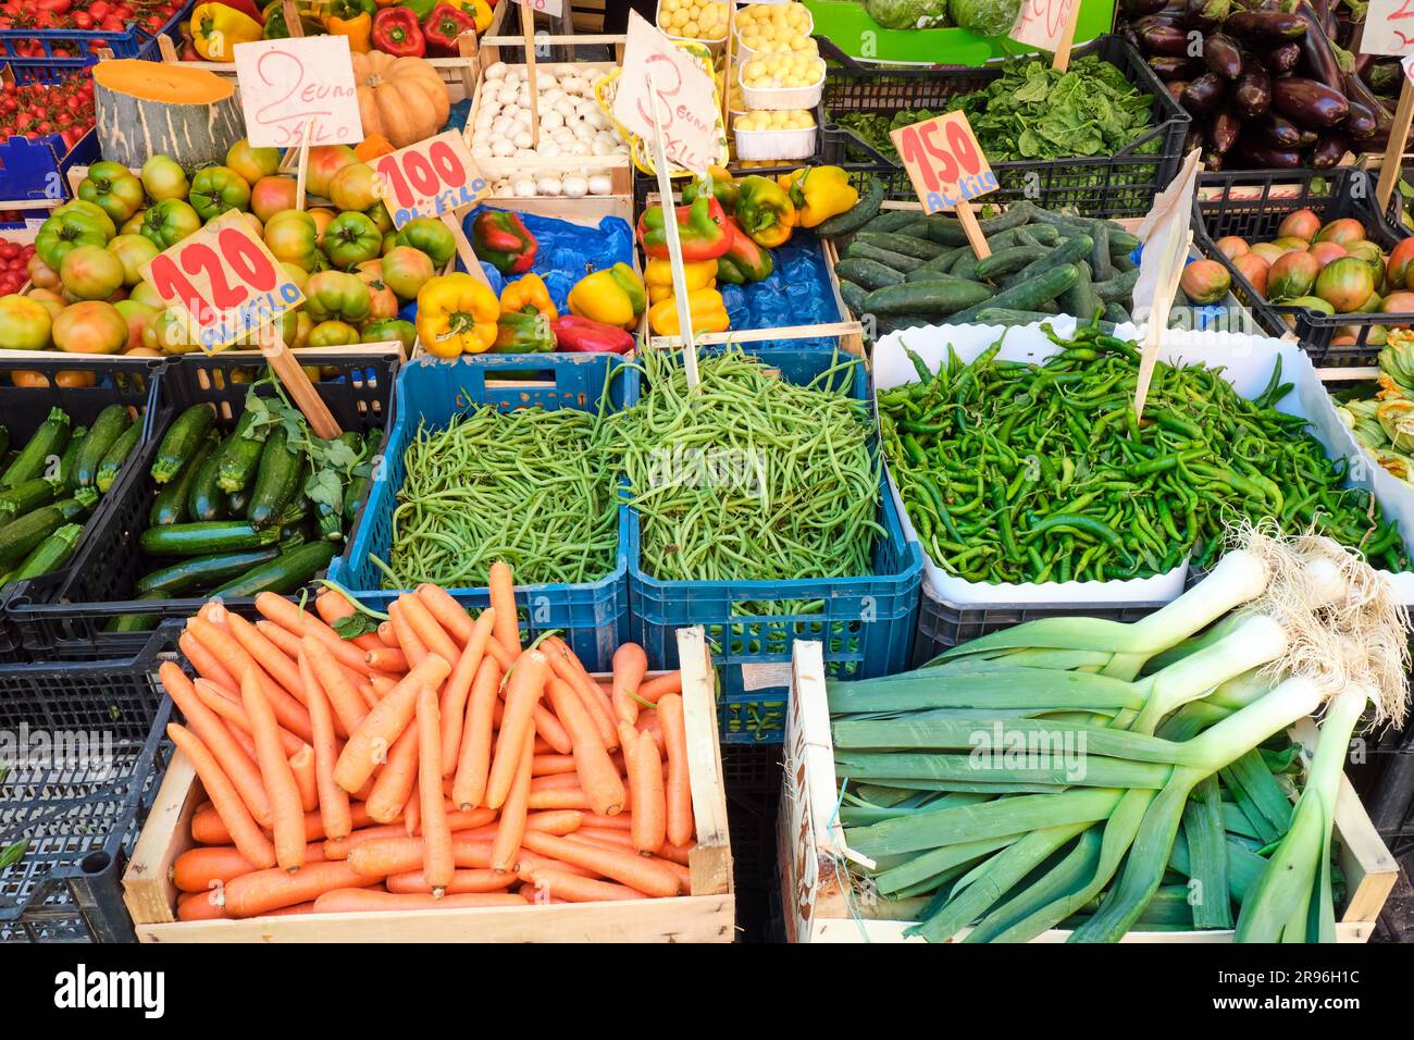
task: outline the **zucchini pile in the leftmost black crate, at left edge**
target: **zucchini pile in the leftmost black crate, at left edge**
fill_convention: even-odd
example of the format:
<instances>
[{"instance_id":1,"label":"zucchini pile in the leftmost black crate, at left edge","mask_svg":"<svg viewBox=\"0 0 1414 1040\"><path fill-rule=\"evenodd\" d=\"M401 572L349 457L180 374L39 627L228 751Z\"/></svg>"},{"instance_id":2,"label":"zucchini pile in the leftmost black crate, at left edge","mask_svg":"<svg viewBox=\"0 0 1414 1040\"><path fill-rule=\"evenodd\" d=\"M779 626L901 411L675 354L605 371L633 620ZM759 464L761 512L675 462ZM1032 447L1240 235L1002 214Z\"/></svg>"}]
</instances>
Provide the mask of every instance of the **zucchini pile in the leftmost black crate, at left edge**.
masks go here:
<instances>
[{"instance_id":1,"label":"zucchini pile in the leftmost black crate, at left edge","mask_svg":"<svg viewBox=\"0 0 1414 1040\"><path fill-rule=\"evenodd\" d=\"M74 559L83 524L141 434L124 405L109 405L92 426L74 426L64 409L51 409L18 450L10 450L10 430L0 426L0 586Z\"/></svg>"}]
</instances>

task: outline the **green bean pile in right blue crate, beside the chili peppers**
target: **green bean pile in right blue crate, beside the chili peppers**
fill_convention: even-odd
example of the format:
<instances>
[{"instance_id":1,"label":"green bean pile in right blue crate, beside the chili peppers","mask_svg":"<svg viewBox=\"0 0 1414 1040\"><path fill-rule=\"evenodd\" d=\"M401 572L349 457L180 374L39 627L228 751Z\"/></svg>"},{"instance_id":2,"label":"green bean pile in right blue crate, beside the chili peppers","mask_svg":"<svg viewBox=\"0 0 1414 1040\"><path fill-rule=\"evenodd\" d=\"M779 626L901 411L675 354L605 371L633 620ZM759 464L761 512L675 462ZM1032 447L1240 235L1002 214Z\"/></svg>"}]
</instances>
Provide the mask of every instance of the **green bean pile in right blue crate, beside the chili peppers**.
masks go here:
<instances>
[{"instance_id":1,"label":"green bean pile in right blue crate, beside the chili peppers","mask_svg":"<svg viewBox=\"0 0 1414 1040\"><path fill-rule=\"evenodd\" d=\"M649 352L649 383L608 416L639 511L643 570L660 580L790 580L872 572L880 461L853 359L807 386L738 348L680 361Z\"/></svg>"}]
</instances>

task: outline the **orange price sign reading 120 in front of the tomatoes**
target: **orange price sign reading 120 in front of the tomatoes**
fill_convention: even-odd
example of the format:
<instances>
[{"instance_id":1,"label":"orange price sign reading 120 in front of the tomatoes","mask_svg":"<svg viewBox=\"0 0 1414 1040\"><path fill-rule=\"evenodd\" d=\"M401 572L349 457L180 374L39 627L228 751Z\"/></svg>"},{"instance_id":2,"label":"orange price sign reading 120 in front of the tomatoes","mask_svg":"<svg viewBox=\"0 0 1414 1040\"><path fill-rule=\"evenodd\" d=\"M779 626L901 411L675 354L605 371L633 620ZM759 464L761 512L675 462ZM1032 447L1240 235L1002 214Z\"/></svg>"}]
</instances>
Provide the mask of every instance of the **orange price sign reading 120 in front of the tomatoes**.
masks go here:
<instances>
[{"instance_id":1,"label":"orange price sign reading 120 in front of the tomatoes","mask_svg":"<svg viewBox=\"0 0 1414 1040\"><path fill-rule=\"evenodd\" d=\"M236 211L154 256L143 277L167 306L187 313L198 345L208 354L255 338L304 303L304 293Z\"/></svg>"}]
</instances>

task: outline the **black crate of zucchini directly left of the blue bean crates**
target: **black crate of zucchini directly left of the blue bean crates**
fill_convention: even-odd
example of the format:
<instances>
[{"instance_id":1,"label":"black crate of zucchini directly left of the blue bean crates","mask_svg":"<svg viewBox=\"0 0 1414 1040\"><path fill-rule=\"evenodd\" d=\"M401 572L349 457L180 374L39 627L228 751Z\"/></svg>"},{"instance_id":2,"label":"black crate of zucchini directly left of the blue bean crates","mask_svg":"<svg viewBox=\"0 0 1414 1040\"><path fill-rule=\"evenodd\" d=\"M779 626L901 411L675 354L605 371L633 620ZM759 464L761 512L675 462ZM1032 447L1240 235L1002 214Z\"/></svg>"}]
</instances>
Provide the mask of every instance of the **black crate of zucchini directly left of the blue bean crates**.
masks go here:
<instances>
[{"instance_id":1,"label":"black crate of zucchini directly left of the blue bean crates","mask_svg":"<svg viewBox=\"0 0 1414 1040\"><path fill-rule=\"evenodd\" d=\"M366 433L386 429L393 419L396 354L320 355L321 378L315 385L324 403L344 430ZM110 508L99 531L74 559L66 574L20 583L7 604L10 623L18 630L28 654L49 659L119 657L141 648L150 632L109 632L106 625L124 614L156 614L158 621L195 614L204 599L134 600L137 580L151 570L137 550L147 529L153 502L148 477L161 436L173 419L199 402L216 409L216 427L229 432L240 417L246 392L263 371L263 362L249 357L188 354L170 362L157 379L150 436L137 454L136 466L110 492ZM255 614L255 601L230 599L225 604L245 616Z\"/></svg>"}]
</instances>

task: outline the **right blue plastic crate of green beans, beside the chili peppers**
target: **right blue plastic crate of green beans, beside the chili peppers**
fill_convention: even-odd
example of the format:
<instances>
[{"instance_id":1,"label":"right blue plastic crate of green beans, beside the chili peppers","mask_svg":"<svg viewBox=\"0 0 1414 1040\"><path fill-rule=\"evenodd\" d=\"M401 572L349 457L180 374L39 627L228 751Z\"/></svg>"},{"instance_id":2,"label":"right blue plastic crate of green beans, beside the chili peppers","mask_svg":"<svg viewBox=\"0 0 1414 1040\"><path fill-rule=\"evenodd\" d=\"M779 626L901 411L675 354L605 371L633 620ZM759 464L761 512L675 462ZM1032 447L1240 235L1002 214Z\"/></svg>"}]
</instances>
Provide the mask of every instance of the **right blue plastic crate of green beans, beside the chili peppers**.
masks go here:
<instances>
[{"instance_id":1,"label":"right blue plastic crate of green beans, beside the chili peppers","mask_svg":"<svg viewBox=\"0 0 1414 1040\"><path fill-rule=\"evenodd\" d=\"M749 351L758 351L752 344ZM761 344L759 357L781 378L805 383L837 358L833 349ZM868 399L864 365L854 374L851 396ZM723 743L778 743L785 737L790 683L790 648L796 640L823 644L826 674L864 679L908 668L918 614L923 557L904 536L894 499L880 478L880 524L874 573L795 582L662 582L643 573L635 556L629 569L632 638L653 668L677 668L676 631L703 625L713 659L721 666L718 733ZM639 542L638 514L631 518ZM806 613L742 613L741 604L819 601Z\"/></svg>"}]
</instances>

